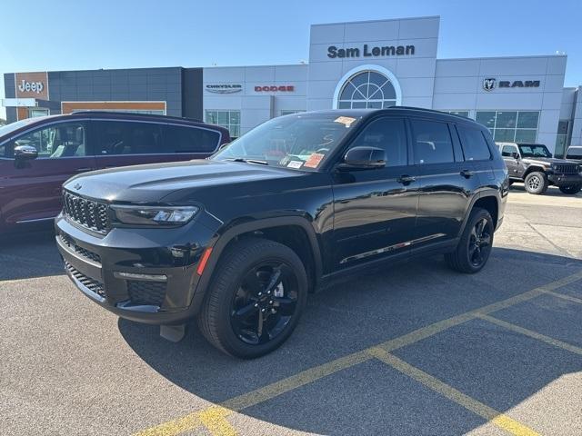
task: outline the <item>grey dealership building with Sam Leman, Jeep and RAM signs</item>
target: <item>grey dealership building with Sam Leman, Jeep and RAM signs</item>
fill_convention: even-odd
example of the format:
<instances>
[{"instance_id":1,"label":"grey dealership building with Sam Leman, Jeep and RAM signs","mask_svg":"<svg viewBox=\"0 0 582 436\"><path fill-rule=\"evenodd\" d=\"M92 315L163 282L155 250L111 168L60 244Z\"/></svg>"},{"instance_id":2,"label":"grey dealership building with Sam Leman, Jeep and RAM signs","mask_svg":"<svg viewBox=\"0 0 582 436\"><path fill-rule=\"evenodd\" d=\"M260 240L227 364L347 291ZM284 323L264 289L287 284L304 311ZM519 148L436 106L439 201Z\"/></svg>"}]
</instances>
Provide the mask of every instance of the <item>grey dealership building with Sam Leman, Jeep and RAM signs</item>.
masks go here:
<instances>
[{"instance_id":1,"label":"grey dealership building with Sam Leman, Jeep and RAM signs","mask_svg":"<svg viewBox=\"0 0 582 436\"><path fill-rule=\"evenodd\" d=\"M497 141L582 144L582 86L565 54L438 59L438 16L311 25L305 64L5 74L8 122L77 110L167 114L233 136L283 115L419 106L486 124Z\"/></svg>"}]
</instances>

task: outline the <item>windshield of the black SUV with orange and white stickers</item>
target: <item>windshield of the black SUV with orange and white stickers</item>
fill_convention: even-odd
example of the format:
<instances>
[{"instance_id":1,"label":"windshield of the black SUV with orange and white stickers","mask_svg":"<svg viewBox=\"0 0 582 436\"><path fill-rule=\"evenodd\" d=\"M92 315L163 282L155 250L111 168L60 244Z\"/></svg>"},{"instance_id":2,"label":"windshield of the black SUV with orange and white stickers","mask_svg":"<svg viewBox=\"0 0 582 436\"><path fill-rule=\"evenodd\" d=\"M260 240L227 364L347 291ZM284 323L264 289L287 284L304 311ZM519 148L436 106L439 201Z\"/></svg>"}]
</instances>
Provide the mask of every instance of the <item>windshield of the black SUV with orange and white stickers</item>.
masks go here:
<instances>
[{"instance_id":1,"label":"windshield of the black SUV with orange and white stickers","mask_svg":"<svg viewBox=\"0 0 582 436\"><path fill-rule=\"evenodd\" d=\"M212 159L316 170L359 119L341 112L282 116L241 136Z\"/></svg>"}]
</instances>

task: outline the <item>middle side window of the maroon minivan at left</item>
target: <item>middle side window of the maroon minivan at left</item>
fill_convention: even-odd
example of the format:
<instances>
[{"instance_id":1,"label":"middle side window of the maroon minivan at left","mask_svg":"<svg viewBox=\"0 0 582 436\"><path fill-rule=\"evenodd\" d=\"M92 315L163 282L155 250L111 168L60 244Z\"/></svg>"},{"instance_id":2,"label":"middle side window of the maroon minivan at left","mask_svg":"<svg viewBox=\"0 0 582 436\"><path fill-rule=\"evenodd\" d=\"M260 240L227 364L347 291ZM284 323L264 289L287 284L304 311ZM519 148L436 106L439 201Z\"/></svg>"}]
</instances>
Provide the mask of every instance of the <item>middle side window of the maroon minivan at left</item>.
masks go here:
<instances>
[{"instance_id":1,"label":"middle side window of the maroon minivan at left","mask_svg":"<svg viewBox=\"0 0 582 436\"><path fill-rule=\"evenodd\" d=\"M99 137L97 155L163 153L159 124L97 121L95 127Z\"/></svg>"}]
</instances>

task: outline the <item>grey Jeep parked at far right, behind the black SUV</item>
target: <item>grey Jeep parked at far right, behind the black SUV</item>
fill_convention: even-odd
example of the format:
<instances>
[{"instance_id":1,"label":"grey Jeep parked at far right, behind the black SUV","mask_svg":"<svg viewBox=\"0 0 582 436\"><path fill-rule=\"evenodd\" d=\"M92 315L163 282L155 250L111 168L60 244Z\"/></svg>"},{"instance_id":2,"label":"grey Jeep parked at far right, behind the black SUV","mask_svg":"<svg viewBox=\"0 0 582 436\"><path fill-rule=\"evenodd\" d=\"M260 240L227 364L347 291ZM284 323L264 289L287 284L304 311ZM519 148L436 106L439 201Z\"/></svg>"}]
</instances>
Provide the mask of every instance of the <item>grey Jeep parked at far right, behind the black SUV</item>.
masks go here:
<instances>
[{"instance_id":1,"label":"grey Jeep parked at far right, behind the black SUV","mask_svg":"<svg viewBox=\"0 0 582 436\"><path fill-rule=\"evenodd\" d=\"M562 193L579 193L582 189L580 164L553 158L544 144L497 143L507 164L509 180L523 182L528 193L546 193L555 185Z\"/></svg>"}]
</instances>

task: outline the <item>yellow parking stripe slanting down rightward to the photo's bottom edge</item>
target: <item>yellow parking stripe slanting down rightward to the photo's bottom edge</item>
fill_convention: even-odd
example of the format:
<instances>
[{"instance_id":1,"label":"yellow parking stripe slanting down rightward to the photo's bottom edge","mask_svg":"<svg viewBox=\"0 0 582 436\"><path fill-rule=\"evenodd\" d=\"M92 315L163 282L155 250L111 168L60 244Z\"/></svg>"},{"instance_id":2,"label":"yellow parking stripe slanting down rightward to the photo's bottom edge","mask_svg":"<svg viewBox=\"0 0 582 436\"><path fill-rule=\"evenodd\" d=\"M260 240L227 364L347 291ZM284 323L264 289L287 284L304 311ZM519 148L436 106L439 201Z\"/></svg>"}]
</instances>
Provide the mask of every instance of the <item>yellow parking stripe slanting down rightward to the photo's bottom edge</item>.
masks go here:
<instances>
[{"instance_id":1,"label":"yellow parking stripe slanting down rightward to the photo's bottom edge","mask_svg":"<svg viewBox=\"0 0 582 436\"><path fill-rule=\"evenodd\" d=\"M395 355L386 352L386 350L382 348L373 348L369 350L369 353L376 357L376 359L387 363L397 371L406 374L408 377L411 377L416 381L424 384L427 388L440 393L444 397L447 397L449 400L456 402L458 405L463 406L465 409L472 411L473 413L476 413L477 415L485 418L487 421L491 421L497 425L497 427L511 434L518 436L538 434L536 431L531 430L524 424L509 418L507 415L504 415L500 411L496 411L481 401L477 401L474 398L469 397L467 394L458 391L452 386L449 386L444 381L440 381L436 377L433 377L432 375L419 370L415 366L412 366L410 363L407 363L402 359L398 359Z\"/></svg>"}]
</instances>

